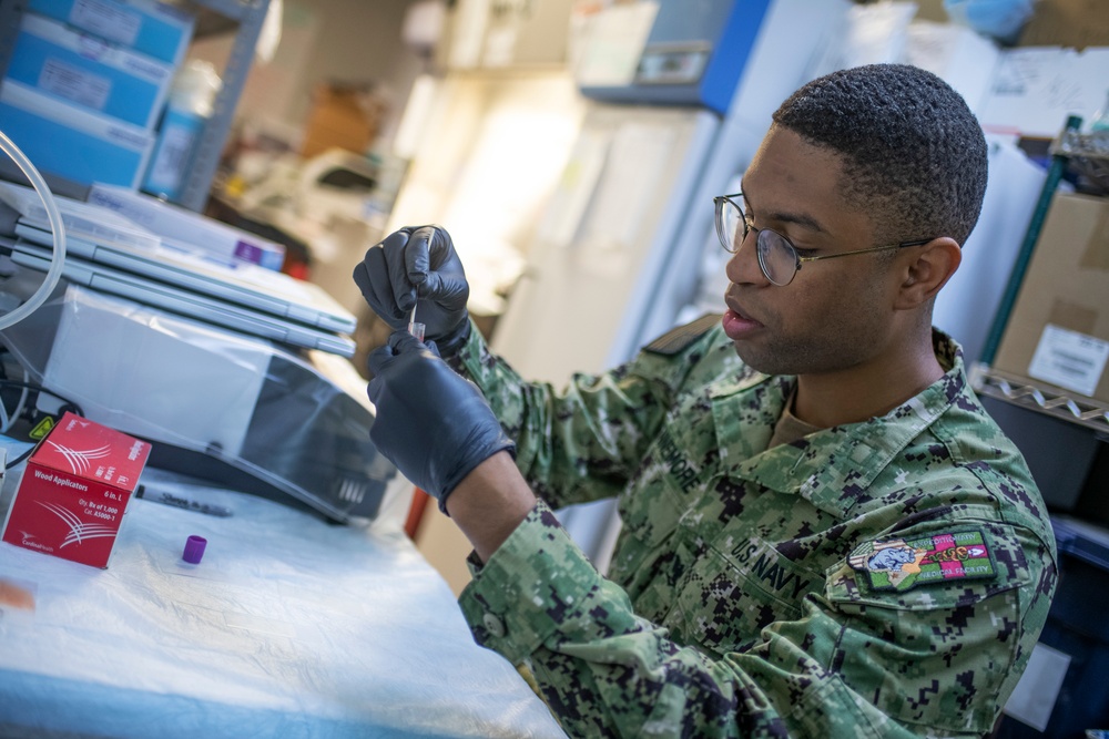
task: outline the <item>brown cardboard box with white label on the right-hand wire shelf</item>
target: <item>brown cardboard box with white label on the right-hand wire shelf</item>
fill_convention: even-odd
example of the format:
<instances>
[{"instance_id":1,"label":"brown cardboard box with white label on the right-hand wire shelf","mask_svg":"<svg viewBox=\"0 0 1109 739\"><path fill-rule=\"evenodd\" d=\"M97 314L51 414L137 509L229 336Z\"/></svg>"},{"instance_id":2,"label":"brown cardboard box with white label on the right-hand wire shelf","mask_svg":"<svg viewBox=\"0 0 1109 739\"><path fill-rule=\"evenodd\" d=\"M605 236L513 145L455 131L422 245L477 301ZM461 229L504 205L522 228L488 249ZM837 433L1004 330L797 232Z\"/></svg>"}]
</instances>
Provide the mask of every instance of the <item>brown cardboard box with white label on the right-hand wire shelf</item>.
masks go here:
<instances>
[{"instance_id":1,"label":"brown cardboard box with white label on the right-hand wire shelf","mask_svg":"<svg viewBox=\"0 0 1109 739\"><path fill-rule=\"evenodd\" d=\"M1058 193L994 368L1109 403L1109 198Z\"/></svg>"}]
</instances>

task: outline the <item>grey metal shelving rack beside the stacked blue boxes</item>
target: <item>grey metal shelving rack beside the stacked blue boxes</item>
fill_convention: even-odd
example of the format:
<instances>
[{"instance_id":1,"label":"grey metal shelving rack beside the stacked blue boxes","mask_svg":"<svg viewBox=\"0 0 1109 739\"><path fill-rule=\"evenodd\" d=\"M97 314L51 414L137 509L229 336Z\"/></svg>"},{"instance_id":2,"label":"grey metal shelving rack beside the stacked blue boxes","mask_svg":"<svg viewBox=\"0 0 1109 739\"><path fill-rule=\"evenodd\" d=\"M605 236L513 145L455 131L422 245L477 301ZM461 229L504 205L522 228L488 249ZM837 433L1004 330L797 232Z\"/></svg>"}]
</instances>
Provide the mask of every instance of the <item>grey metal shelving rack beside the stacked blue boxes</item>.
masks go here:
<instances>
[{"instance_id":1,"label":"grey metal shelving rack beside the stacked blue boxes","mask_svg":"<svg viewBox=\"0 0 1109 739\"><path fill-rule=\"evenodd\" d=\"M27 4L27 0L0 0L0 76L8 69ZM207 202L212 178L220 165L220 155L231 131L235 105L251 71L254 47L262 32L269 0L186 0L180 4L184 10L195 12L201 21L211 14L217 16L221 21L226 21L215 24L221 29L230 24L237 25L231 55L221 74L223 88L216 96L212 117L206 122L193 152L179 202L191 211L200 212ZM197 23L199 29L203 29L203 25L202 22ZM58 182L59 179L48 177L51 187L61 194L83 197L82 193L88 189L73 183Z\"/></svg>"}]
</instances>

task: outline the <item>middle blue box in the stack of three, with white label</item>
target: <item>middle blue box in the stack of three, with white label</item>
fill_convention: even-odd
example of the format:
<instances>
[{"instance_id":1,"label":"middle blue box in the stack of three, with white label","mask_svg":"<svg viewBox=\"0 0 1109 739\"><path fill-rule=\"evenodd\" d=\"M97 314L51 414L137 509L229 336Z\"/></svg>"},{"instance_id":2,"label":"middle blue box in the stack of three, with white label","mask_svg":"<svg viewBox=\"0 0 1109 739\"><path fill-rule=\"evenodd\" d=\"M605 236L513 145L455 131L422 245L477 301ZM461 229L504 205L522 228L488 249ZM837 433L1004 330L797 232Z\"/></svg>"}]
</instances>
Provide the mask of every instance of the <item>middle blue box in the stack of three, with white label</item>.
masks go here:
<instances>
[{"instance_id":1,"label":"middle blue box in the stack of three, with white label","mask_svg":"<svg viewBox=\"0 0 1109 739\"><path fill-rule=\"evenodd\" d=\"M153 129L173 68L27 13L8 76L71 104Z\"/></svg>"}]
</instances>

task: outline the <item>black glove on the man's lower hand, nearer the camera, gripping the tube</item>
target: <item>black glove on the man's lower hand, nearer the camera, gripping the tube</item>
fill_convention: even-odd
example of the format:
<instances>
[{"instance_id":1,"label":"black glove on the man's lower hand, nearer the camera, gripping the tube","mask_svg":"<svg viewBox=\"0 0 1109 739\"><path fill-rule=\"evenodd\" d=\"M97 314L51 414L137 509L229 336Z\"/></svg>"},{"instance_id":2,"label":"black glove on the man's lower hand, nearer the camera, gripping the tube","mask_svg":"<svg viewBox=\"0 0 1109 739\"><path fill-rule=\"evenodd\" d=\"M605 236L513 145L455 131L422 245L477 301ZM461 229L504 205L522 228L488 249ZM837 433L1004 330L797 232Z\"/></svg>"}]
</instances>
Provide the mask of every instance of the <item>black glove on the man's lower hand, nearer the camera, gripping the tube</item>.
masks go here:
<instances>
[{"instance_id":1,"label":"black glove on the man's lower hand, nearer the camera, gripping the tube","mask_svg":"<svg viewBox=\"0 0 1109 739\"><path fill-rule=\"evenodd\" d=\"M474 468L500 451L516 454L478 387L455 373L407 331L369 356L369 399L377 418L369 438L408 480L439 501Z\"/></svg>"}]
</instances>

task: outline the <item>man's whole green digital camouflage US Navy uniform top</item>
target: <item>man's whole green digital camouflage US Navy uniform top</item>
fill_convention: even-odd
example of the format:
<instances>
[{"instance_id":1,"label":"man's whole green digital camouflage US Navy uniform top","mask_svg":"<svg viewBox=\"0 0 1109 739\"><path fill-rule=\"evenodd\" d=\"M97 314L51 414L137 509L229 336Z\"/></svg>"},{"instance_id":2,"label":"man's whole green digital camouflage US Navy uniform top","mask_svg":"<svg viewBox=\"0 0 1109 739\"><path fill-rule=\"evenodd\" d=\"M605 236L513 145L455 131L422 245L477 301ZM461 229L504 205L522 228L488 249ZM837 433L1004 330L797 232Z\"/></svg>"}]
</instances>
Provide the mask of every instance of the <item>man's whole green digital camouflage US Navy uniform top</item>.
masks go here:
<instances>
[{"instance_id":1,"label":"man's whole green digital camouflage US Navy uniform top","mask_svg":"<svg viewBox=\"0 0 1109 739\"><path fill-rule=\"evenodd\" d=\"M472 567L477 642L529 669L574 737L990 730L1047 617L1055 540L957 346L937 333L946 374L885 417L766 449L795 379L745 368L713 326L559 392L472 331L456 367L546 501ZM606 579L551 510L612 495ZM966 566L991 573L872 579L936 571L965 532L986 550ZM897 542L912 556L869 563Z\"/></svg>"}]
</instances>

